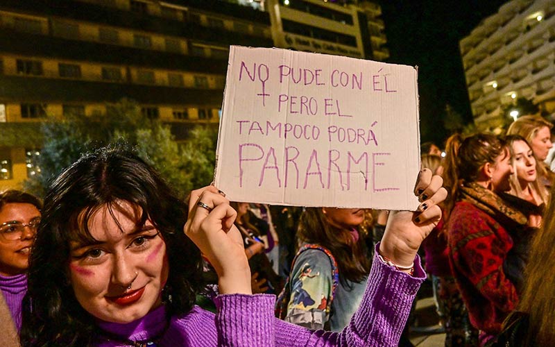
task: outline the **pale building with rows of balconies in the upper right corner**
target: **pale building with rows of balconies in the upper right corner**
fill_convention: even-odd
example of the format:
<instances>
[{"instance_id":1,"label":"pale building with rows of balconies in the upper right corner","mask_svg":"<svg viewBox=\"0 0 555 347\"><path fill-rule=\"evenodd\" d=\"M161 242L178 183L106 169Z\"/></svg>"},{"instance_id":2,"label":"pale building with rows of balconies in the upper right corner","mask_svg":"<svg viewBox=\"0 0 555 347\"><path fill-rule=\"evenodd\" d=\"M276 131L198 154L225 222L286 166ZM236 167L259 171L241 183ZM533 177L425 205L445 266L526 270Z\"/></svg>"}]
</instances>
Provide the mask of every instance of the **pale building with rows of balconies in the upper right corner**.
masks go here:
<instances>
[{"instance_id":1,"label":"pale building with rows of balconies in the upper right corner","mask_svg":"<svg viewBox=\"0 0 555 347\"><path fill-rule=\"evenodd\" d=\"M477 126L502 124L520 97L555 112L555 2L513 0L460 42L468 96ZM517 117L513 112L512 117Z\"/></svg>"}]
</instances>

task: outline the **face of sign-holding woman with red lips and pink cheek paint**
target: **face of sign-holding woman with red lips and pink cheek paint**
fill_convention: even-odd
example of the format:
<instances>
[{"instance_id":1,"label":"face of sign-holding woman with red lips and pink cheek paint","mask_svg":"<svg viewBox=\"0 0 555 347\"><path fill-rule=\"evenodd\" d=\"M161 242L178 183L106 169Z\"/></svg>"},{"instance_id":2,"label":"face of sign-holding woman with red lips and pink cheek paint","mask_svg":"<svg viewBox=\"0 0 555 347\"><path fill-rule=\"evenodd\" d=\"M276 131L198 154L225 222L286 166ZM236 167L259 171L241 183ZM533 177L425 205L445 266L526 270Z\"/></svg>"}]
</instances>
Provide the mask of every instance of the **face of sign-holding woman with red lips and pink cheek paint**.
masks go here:
<instances>
[{"instance_id":1,"label":"face of sign-holding woman with red lips and pink cheek paint","mask_svg":"<svg viewBox=\"0 0 555 347\"><path fill-rule=\"evenodd\" d=\"M89 219L98 242L71 242L69 273L77 301L98 319L129 323L162 305L169 273L166 244L141 210L125 201L104 205Z\"/></svg>"}]
</instances>

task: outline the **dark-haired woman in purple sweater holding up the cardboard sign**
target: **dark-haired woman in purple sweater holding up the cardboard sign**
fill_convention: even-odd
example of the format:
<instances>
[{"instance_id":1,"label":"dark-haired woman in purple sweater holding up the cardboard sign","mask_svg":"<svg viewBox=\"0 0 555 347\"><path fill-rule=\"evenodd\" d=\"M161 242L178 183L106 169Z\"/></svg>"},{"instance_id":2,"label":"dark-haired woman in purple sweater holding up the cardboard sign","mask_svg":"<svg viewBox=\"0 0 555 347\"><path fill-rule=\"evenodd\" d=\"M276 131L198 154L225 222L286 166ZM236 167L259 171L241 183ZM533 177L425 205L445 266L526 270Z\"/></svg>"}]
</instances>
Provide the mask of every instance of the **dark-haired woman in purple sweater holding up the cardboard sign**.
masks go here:
<instances>
[{"instance_id":1,"label":"dark-haired woman in purple sweater holding up the cardboard sign","mask_svg":"<svg viewBox=\"0 0 555 347\"><path fill-rule=\"evenodd\" d=\"M275 296L251 294L236 212L217 188L192 192L187 208L135 154L87 154L46 194L22 344L396 346L425 280L416 251L441 217L441 184L420 173L418 211L391 212L361 307L341 333L327 334L275 319ZM219 275L216 314L194 305L201 252Z\"/></svg>"}]
</instances>

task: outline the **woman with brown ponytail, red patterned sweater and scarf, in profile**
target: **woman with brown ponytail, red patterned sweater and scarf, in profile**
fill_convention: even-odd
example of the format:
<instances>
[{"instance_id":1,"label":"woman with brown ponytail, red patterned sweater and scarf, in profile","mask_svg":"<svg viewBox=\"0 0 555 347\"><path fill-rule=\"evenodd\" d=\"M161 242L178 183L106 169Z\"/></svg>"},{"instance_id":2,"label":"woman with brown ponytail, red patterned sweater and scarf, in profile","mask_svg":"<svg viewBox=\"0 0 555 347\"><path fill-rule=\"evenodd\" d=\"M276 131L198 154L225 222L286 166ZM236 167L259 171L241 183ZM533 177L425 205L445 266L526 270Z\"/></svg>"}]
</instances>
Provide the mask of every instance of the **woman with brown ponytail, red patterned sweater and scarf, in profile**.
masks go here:
<instances>
[{"instance_id":1,"label":"woman with brown ponytail, red patterned sweater and scarf, in profile","mask_svg":"<svg viewBox=\"0 0 555 347\"><path fill-rule=\"evenodd\" d=\"M501 331L506 316L518 304L515 285L503 264L513 247L509 230L522 228L527 217L499 197L509 191L513 173L509 147L494 135L477 134L460 142L452 139L445 182L451 196L447 206L450 265L484 346Z\"/></svg>"}]
</instances>

